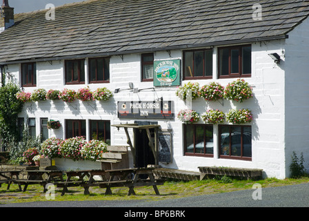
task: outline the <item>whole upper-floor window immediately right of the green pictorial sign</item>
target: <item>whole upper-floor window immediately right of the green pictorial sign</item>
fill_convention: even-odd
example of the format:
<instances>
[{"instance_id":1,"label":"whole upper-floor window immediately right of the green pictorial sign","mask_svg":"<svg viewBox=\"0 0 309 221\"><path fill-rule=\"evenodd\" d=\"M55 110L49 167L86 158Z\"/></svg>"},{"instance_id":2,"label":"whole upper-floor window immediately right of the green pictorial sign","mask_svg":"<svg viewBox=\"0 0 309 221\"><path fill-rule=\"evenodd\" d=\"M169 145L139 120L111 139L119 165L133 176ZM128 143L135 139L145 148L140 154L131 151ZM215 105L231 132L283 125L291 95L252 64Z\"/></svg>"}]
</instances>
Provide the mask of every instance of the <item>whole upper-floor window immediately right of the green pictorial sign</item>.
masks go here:
<instances>
[{"instance_id":1,"label":"whole upper-floor window immediately right of the green pictorial sign","mask_svg":"<svg viewBox=\"0 0 309 221\"><path fill-rule=\"evenodd\" d=\"M183 52L183 79L212 78L212 49Z\"/></svg>"}]
</instances>

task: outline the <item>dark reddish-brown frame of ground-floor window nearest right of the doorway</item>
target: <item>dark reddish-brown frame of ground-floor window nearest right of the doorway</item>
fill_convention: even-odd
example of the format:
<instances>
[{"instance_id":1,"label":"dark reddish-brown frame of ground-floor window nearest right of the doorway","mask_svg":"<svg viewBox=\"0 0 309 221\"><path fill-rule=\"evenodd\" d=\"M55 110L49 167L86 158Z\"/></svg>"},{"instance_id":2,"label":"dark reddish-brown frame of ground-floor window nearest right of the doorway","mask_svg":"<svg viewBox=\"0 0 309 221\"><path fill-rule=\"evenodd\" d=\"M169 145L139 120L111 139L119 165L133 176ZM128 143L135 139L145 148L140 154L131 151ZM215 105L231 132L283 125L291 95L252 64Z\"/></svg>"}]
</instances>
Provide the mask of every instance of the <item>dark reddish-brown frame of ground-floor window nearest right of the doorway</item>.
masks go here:
<instances>
[{"instance_id":1,"label":"dark reddish-brown frame of ground-floor window nearest right of the doorway","mask_svg":"<svg viewBox=\"0 0 309 221\"><path fill-rule=\"evenodd\" d=\"M194 147L193 147L193 153L190 153L187 151L187 135L186 135L186 132L187 132L187 127L188 126L193 126L193 144L194 144ZM196 152L196 142L197 142L197 133L196 133L196 128L197 126L202 126L203 127L203 143L204 143L204 148L203 148L203 153L197 153ZM211 128L211 131L212 131L212 143L213 143L213 138L214 138L214 127L212 124L183 124L183 153L184 155L186 156L199 156L199 157L214 157L214 150L213 150L213 147L212 147L212 153L206 153L206 128Z\"/></svg>"}]
</instances>

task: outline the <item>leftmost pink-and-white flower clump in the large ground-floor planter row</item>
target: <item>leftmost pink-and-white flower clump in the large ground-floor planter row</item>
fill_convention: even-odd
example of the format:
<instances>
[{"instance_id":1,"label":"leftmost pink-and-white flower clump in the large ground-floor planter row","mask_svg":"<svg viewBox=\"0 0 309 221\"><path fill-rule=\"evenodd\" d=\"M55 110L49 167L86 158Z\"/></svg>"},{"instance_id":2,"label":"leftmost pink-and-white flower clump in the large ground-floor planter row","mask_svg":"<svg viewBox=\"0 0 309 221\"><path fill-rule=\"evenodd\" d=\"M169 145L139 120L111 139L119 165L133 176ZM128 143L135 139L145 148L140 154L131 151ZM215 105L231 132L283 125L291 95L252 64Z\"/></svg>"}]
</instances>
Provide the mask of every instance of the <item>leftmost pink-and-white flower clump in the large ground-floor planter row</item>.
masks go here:
<instances>
[{"instance_id":1,"label":"leftmost pink-and-white flower clump in the large ground-floor planter row","mask_svg":"<svg viewBox=\"0 0 309 221\"><path fill-rule=\"evenodd\" d=\"M61 158L61 153L59 149L60 143L63 140L51 137L44 141L41 145L41 153L48 158Z\"/></svg>"}]
</instances>

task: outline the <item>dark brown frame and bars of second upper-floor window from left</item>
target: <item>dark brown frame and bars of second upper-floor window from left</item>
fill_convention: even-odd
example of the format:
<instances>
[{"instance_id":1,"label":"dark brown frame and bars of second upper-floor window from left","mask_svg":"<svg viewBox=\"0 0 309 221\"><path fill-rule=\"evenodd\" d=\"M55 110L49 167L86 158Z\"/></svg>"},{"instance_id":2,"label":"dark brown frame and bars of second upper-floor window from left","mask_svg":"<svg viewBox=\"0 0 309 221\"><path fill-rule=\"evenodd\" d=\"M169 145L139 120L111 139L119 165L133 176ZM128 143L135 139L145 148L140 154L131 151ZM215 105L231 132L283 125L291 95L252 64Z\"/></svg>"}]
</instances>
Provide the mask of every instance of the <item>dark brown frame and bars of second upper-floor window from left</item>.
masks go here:
<instances>
[{"instance_id":1,"label":"dark brown frame and bars of second upper-floor window from left","mask_svg":"<svg viewBox=\"0 0 309 221\"><path fill-rule=\"evenodd\" d=\"M72 67L74 67L74 62L78 63L77 70L77 81L74 81L74 68L68 72L68 62L73 62ZM86 82L86 73L85 73L85 59L74 59L64 61L64 72L65 72L65 81L66 84L85 84ZM68 76L70 75L71 81L68 81ZM83 75L83 81L81 80L81 75Z\"/></svg>"}]
</instances>

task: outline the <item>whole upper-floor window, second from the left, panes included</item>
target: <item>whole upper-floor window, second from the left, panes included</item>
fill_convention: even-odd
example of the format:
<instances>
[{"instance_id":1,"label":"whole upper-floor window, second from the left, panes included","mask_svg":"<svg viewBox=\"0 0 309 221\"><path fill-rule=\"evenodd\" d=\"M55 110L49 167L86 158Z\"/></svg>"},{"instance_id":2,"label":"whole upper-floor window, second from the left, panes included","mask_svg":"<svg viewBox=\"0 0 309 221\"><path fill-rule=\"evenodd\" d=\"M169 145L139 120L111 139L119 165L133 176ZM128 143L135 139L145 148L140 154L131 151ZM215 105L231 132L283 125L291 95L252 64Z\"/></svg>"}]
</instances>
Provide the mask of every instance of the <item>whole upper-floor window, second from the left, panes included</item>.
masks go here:
<instances>
[{"instance_id":1,"label":"whole upper-floor window, second from the left, panes included","mask_svg":"<svg viewBox=\"0 0 309 221\"><path fill-rule=\"evenodd\" d=\"M65 61L66 84L85 84L85 60Z\"/></svg>"}]
</instances>

